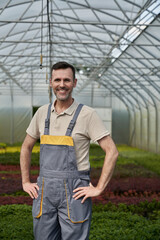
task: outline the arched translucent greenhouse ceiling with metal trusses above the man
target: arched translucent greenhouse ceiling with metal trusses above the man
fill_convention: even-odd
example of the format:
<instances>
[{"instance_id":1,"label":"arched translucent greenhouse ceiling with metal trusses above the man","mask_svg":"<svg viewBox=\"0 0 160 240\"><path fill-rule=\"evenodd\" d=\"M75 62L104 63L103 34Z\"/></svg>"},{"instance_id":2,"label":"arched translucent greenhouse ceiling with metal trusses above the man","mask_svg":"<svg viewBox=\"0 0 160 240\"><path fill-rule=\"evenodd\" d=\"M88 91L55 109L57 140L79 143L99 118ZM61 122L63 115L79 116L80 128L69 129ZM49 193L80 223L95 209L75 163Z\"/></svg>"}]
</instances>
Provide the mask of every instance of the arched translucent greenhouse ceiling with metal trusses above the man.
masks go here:
<instances>
[{"instance_id":1,"label":"arched translucent greenhouse ceiling with metal trusses above the man","mask_svg":"<svg viewBox=\"0 0 160 240\"><path fill-rule=\"evenodd\" d=\"M155 105L159 12L160 0L1 0L0 94L51 94L50 67L65 60L77 69L76 94L94 82L126 107Z\"/></svg>"}]
</instances>

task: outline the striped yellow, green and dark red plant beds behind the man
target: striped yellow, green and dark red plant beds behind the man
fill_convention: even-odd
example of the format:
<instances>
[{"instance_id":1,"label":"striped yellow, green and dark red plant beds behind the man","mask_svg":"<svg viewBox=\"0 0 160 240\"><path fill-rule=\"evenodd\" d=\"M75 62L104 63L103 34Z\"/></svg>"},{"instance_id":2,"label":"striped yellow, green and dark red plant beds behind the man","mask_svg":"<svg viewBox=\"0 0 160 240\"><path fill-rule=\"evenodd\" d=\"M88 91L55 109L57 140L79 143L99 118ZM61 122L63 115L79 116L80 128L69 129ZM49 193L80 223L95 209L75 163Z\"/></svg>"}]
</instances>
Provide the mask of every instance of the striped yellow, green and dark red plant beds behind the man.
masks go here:
<instances>
[{"instance_id":1,"label":"striped yellow, green and dark red plant beds behind the man","mask_svg":"<svg viewBox=\"0 0 160 240\"><path fill-rule=\"evenodd\" d=\"M19 149L18 149L19 148ZM0 204L26 203L32 199L24 194L19 166L20 147L10 147L0 154ZM38 176L39 147L32 154L31 176L36 182ZM160 155L148 153L128 146L119 146L118 158L113 177L106 190L93 198L94 204L108 202L138 204L153 199L160 201ZM96 185L101 174L104 152L98 145L91 145L91 182ZM157 167L156 167L157 166Z\"/></svg>"}]
</instances>

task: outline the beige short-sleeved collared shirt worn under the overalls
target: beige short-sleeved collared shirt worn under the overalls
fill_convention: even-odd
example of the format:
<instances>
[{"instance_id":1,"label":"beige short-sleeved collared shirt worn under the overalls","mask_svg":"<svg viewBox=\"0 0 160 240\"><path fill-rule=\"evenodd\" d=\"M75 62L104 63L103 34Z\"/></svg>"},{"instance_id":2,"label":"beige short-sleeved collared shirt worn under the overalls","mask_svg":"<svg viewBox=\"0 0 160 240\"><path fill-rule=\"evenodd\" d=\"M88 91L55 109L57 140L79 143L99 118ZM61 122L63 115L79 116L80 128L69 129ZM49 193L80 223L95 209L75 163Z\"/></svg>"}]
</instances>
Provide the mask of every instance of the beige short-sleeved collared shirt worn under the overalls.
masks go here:
<instances>
[{"instance_id":1,"label":"beige short-sleeved collared shirt worn under the overalls","mask_svg":"<svg viewBox=\"0 0 160 240\"><path fill-rule=\"evenodd\" d=\"M40 107L33 116L30 125L26 130L31 137L39 139L42 135L44 135L44 125L47 117L48 106L49 105L47 104ZM77 106L78 103L74 101L68 109L60 114L57 114L54 104L52 104L50 135L63 136L66 134L67 127L73 118ZM90 140L96 142L107 135L109 135L109 132L106 130L96 111L93 108L84 105L72 132L78 170L89 170L90 168Z\"/></svg>"}]
</instances>

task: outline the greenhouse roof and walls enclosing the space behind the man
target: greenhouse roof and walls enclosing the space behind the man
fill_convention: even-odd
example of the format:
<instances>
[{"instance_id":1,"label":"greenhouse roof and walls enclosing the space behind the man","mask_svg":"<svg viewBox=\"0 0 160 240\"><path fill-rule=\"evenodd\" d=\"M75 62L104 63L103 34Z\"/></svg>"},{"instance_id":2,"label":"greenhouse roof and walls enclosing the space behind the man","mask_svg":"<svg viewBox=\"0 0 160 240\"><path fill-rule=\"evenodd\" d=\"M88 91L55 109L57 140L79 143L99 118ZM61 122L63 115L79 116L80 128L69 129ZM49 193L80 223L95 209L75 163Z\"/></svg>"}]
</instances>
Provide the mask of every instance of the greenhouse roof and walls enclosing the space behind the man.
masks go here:
<instances>
[{"instance_id":1,"label":"greenhouse roof and walls enclosing the space behind the man","mask_svg":"<svg viewBox=\"0 0 160 240\"><path fill-rule=\"evenodd\" d=\"M0 142L22 142L54 101L53 63L76 68L74 97L116 143L160 153L159 0L1 0Z\"/></svg>"}]
</instances>

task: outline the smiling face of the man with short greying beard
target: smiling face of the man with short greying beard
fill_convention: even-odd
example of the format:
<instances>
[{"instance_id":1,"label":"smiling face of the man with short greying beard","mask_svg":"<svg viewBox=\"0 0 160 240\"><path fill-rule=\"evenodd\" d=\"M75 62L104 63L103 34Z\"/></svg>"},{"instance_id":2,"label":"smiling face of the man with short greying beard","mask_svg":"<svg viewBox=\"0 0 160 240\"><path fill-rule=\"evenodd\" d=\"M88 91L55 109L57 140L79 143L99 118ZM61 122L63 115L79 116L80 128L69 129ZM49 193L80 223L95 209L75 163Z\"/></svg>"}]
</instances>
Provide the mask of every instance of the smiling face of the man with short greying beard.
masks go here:
<instances>
[{"instance_id":1,"label":"smiling face of the man with short greying beard","mask_svg":"<svg viewBox=\"0 0 160 240\"><path fill-rule=\"evenodd\" d=\"M73 79L73 72L71 68L52 71L50 86L53 88L57 100L70 100L72 98L72 91L76 86L76 83L77 79Z\"/></svg>"}]
</instances>

